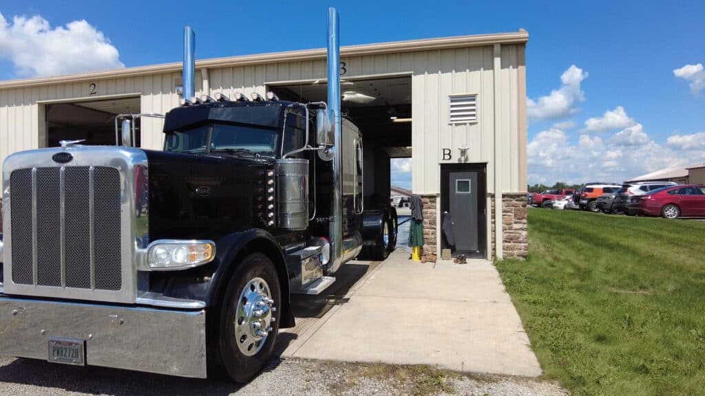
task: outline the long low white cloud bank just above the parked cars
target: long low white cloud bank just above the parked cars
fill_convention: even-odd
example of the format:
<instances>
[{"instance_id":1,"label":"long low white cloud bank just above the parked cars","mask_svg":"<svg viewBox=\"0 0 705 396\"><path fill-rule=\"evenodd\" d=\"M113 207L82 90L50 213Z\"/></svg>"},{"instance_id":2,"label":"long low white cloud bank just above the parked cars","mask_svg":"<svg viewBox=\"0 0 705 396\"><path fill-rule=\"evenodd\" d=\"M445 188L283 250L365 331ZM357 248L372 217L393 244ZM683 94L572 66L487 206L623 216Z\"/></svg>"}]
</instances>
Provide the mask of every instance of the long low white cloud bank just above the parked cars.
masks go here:
<instances>
[{"instance_id":1,"label":"long low white cloud bank just above the parked cars","mask_svg":"<svg viewBox=\"0 0 705 396\"><path fill-rule=\"evenodd\" d=\"M683 151L671 142L654 142L639 123L610 137L581 134L577 142L574 139L557 128L537 133L527 147L529 183L622 182L705 158L701 156L703 150Z\"/></svg>"}]
</instances>

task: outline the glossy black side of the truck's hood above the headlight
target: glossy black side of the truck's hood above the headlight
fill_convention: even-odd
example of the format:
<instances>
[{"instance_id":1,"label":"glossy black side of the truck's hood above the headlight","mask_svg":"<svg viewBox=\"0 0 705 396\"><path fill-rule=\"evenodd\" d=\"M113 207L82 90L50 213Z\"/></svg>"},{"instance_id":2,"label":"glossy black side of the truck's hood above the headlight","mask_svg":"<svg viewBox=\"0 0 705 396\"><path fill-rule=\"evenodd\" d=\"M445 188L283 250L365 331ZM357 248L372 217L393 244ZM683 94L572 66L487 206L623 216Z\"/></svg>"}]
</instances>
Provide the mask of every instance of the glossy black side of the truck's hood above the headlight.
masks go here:
<instances>
[{"instance_id":1,"label":"glossy black side of the truck's hood above the headlight","mask_svg":"<svg viewBox=\"0 0 705 396\"><path fill-rule=\"evenodd\" d=\"M262 227L257 210L274 159L145 150L149 163L149 239L217 240ZM262 191L259 191L262 190Z\"/></svg>"}]
</instances>

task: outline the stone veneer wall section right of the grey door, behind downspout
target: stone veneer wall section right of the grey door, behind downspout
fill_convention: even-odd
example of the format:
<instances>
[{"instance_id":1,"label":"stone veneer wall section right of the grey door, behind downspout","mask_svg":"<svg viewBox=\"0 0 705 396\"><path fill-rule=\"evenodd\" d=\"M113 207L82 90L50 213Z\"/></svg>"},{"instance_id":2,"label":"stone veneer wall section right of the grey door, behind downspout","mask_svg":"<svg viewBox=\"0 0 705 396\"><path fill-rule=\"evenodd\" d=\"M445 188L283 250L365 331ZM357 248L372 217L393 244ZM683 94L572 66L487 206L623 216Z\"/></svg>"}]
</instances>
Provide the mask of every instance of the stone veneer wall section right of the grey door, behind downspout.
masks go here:
<instances>
[{"instance_id":1,"label":"stone veneer wall section right of the grey door, behind downspout","mask_svg":"<svg viewBox=\"0 0 705 396\"><path fill-rule=\"evenodd\" d=\"M489 195L491 202L491 256L495 256L494 194ZM525 259L529 254L527 215L526 193L504 193L502 195L502 251L505 257Z\"/></svg>"}]
</instances>

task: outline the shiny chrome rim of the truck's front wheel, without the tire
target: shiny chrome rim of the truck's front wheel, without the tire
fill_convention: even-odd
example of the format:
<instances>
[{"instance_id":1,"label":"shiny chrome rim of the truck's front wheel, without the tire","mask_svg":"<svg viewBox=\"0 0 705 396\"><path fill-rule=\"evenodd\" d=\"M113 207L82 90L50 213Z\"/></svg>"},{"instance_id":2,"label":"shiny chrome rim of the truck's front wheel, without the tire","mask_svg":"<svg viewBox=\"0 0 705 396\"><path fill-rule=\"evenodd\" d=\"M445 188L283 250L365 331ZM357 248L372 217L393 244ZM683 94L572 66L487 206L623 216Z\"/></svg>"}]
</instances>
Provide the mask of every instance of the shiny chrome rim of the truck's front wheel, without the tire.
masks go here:
<instances>
[{"instance_id":1,"label":"shiny chrome rim of the truck's front wheel, without the tire","mask_svg":"<svg viewBox=\"0 0 705 396\"><path fill-rule=\"evenodd\" d=\"M266 280L253 278L243 288L235 309L235 344L245 356L259 352L271 332L274 299Z\"/></svg>"}]
</instances>

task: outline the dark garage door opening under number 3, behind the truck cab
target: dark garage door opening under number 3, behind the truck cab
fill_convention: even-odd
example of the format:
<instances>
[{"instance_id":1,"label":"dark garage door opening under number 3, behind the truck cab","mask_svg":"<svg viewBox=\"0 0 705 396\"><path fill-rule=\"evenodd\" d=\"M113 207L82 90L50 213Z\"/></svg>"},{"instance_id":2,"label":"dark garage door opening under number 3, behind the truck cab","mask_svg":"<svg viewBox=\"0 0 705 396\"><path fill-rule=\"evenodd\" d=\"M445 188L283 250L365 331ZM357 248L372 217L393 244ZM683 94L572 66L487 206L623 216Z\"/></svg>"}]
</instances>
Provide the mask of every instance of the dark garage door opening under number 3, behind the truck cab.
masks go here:
<instances>
[{"instance_id":1,"label":"dark garage door opening under number 3, behind the truck cab","mask_svg":"<svg viewBox=\"0 0 705 396\"><path fill-rule=\"evenodd\" d=\"M328 87L318 80L269 89L283 100L327 101ZM411 156L411 78L343 78L341 110L362 132L364 205L389 205L393 187L391 159ZM407 188L410 190L410 185Z\"/></svg>"}]
</instances>

